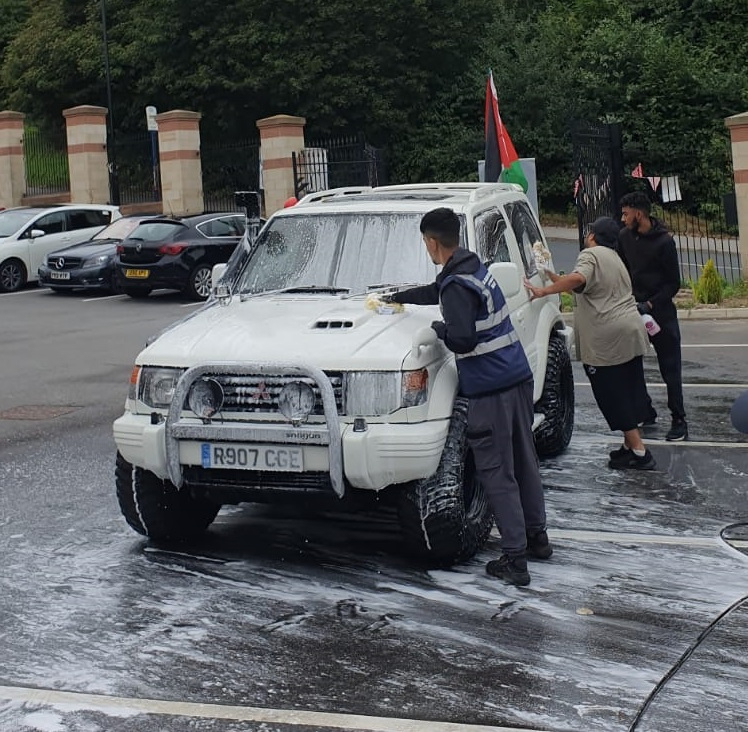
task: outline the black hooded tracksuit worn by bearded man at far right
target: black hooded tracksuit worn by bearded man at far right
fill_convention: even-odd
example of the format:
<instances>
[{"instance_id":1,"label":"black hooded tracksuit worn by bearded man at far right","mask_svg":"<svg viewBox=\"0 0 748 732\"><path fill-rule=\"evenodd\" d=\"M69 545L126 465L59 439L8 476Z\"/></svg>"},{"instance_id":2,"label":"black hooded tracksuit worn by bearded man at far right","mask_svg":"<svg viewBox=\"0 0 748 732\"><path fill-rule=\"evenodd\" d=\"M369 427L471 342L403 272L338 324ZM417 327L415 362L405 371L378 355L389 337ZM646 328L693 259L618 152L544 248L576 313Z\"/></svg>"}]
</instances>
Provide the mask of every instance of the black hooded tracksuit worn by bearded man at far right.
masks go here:
<instances>
[{"instance_id":1,"label":"black hooded tracksuit worn by bearded man at far right","mask_svg":"<svg viewBox=\"0 0 748 732\"><path fill-rule=\"evenodd\" d=\"M680 289L678 252L675 240L663 223L655 218L651 222L652 228L646 234L621 229L618 235L618 253L631 275L636 302L649 302L652 305L652 317L659 324L660 332L656 336L650 336L650 340L657 353L662 379L667 386L667 405L673 420L685 420L680 328L673 303L673 298ZM651 399L649 402L651 407Z\"/></svg>"}]
</instances>

